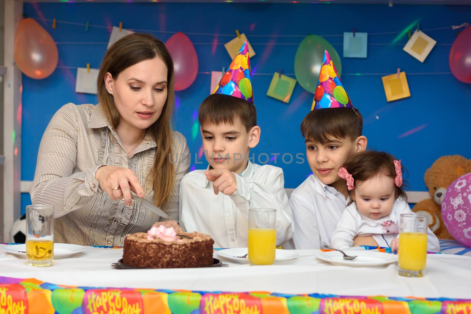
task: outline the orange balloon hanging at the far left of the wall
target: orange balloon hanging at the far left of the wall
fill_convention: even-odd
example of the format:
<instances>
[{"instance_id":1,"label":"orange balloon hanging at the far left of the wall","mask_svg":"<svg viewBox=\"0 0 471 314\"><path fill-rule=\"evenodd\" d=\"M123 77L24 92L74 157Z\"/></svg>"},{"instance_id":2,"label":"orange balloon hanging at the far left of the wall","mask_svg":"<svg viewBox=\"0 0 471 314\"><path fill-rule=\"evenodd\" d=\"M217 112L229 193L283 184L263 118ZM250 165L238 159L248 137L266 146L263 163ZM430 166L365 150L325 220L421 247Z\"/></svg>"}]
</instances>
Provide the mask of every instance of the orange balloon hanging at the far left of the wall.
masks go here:
<instances>
[{"instance_id":1,"label":"orange balloon hanging at the far left of the wall","mask_svg":"<svg viewBox=\"0 0 471 314\"><path fill-rule=\"evenodd\" d=\"M57 46L51 35L32 18L18 26L15 38L15 61L21 72L32 79L44 79L57 67Z\"/></svg>"}]
</instances>

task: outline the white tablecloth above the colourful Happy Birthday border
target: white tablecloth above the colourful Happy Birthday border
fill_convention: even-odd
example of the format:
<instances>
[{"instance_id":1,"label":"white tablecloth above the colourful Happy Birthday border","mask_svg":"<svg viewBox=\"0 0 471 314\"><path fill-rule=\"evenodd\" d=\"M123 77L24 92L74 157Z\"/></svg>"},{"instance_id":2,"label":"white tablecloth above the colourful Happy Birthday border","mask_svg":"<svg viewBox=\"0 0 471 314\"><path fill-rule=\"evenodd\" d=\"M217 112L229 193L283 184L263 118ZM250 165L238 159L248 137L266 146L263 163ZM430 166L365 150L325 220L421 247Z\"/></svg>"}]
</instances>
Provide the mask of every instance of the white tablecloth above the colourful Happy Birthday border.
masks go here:
<instances>
[{"instance_id":1,"label":"white tablecloth above the colourful Happy Birthday border","mask_svg":"<svg viewBox=\"0 0 471 314\"><path fill-rule=\"evenodd\" d=\"M317 250L298 250L301 257L272 266L249 266L223 260L229 267L118 270L111 264L122 249L87 249L52 267L33 267L6 253L0 244L0 276L91 287L328 293L346 296L471 298L471 257L429 254L426 276L398 275L397 263L382 267L333 266L315 257ZM387 253L383 253L387 254Z\"/></svg>"}]
</instances>

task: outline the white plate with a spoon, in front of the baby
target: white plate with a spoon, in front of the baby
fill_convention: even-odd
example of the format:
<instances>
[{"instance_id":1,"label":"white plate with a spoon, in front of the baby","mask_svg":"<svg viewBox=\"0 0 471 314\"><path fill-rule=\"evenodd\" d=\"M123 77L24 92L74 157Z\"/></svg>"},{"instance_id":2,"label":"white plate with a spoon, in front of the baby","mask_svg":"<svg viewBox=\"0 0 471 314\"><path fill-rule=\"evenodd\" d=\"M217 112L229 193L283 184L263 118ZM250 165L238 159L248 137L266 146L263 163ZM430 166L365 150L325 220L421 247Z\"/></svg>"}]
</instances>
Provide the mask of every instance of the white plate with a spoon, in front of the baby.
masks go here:
<instances>
[{"instance_id":1,"label":"white plate with a spoon, in front of the baby","mask_svg":"<svg viewBox=\"0 0 471 314\"><path fill-rule=\"evenodd\" d=\"M332 265L342 266L383 266L398 261L398 256L382 252L369 252L369 251L345 251L347 255L357 256L355 259L345 259L343 254L339 251L320 252L316 255L317 258L325 260Z\"/></svg>"}]
</instances>

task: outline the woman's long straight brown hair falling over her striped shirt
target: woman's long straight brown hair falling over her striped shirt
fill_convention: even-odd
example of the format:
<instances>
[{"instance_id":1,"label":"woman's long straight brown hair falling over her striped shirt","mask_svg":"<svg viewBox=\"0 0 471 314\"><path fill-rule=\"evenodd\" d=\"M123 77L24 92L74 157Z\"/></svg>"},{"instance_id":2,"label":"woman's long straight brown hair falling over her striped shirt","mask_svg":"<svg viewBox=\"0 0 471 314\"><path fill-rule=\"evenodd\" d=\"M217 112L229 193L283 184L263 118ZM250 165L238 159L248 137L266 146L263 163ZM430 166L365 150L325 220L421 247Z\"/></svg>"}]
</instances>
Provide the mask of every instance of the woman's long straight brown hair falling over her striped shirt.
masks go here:
<instances>
[{"instance_id":1,"label":"woman's long straight brown hair falling over her striped shirt","mask_svg":"<svg viewBox=\"0 0 471 314\"><path fill-rule=\"evenodd\" d=\"M165 208L170 199L175 184L175 169L168 156L172 155L173 131L171 121L173 119L173 106L175 92L173 82L173 61L165 44L150 34L133 33L116 41L108 50L100 66L98 73L97 91L98 101L102 105L106 117L114 129L120 122L120 114L114 105L113 96L106 90L105 75L110 72L113 79L131 65L147 59L158 57L167 65L167 100L163 106L159 119L148 129L157 143L154 166L150 178L154 188L154 204Z\"/></svg>"}]
</instances>

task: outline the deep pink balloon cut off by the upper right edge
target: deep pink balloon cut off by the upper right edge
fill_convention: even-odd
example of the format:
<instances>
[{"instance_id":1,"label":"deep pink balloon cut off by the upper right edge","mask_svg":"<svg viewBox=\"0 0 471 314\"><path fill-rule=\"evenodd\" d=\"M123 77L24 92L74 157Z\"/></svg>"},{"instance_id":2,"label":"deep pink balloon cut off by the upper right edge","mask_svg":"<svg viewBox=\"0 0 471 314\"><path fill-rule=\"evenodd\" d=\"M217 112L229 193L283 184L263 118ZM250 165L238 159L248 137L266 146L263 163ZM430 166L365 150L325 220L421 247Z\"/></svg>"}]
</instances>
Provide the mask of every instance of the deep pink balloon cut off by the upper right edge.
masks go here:
<instances>
[{"instance_id":1,"label":"deep pink balloon cut off by the upper right edge","mask_svg":"<svg viewBox=\"0 0 471 314\"><path fill-rule=\"evenodd\" d=\"M464 29L451 46L450 70L463 83L471 83L471 26Z\"/></svg>"}]
</instances>

